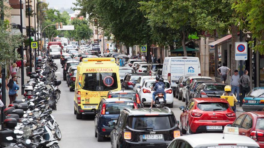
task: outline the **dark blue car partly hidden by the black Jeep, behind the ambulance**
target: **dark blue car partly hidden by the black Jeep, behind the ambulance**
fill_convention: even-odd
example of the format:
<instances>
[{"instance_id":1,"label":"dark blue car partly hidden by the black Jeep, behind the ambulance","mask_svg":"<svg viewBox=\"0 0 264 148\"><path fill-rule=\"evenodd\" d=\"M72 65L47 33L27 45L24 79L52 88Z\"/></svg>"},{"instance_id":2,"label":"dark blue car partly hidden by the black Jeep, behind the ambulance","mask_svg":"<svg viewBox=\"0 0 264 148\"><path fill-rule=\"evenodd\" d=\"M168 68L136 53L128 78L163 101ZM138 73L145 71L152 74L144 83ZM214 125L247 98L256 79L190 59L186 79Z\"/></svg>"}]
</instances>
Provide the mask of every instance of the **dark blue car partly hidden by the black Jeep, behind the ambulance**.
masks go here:
<instances>
[{"instance_id":1,"label":"dark blue car partly hidden by the black Jeep, behind the ambulance","mask_svg":"<svg viewBox=\"0 0 264 148\"><path fill-rule=\"evenodd\" d=\"M98 142L103 141L104 137L110 137L113 128L109 127L108 123L116 122L124 108L137 109L137 103L132 97L101 100L95 116L95 137Z\"/></svg>"}]
</instances>

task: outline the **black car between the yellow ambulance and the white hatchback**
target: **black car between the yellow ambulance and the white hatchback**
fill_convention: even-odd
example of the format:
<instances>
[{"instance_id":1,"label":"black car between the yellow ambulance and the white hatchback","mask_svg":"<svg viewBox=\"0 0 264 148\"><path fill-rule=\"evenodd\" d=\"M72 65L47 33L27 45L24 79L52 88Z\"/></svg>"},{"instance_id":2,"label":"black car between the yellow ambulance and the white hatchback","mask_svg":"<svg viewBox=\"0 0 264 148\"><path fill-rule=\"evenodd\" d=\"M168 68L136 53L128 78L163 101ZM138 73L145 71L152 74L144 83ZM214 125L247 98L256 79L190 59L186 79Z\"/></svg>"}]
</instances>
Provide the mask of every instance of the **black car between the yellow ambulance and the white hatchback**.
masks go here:
<instances>
[{"instance_id":1,"label":"black car between the yellow ambulance and the white hatchback","mask_svg":"<svg viewBox=\"0 0 264 148\"><path fill-rule=\"evenodd\" d=\"M122 82L122 87L125 89L134 89L134 86L137 82L137 79L140 76L146 76L147 74L144 73L134 73L134 74L127 74Z\"/></svg>"}]
</instances>

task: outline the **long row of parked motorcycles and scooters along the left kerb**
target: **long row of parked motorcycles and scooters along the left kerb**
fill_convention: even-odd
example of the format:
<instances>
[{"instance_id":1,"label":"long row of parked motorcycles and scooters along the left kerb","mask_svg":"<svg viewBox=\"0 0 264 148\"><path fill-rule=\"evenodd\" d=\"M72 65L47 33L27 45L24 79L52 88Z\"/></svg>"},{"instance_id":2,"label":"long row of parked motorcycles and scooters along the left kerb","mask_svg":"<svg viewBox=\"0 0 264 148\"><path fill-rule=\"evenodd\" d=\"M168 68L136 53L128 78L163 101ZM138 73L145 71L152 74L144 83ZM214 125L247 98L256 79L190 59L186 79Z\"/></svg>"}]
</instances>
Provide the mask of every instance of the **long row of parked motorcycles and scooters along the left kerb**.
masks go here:
<instances>
[{"instance_id":1,"label":"long row of parked motorcycles and scooters along the left kerb","mask_svg":"<svg viewBox=\"0 0 264 148\"><path fill-rule=\"evenodd\" d=\"M16 99L3 111L6 119L0 131L0 147L59 148L61 131L52 116L61 93L55 67L53 59L39 59L35 72L28 73L30 79L22 86L24 98Z\"/></svg>"}]
</instances>

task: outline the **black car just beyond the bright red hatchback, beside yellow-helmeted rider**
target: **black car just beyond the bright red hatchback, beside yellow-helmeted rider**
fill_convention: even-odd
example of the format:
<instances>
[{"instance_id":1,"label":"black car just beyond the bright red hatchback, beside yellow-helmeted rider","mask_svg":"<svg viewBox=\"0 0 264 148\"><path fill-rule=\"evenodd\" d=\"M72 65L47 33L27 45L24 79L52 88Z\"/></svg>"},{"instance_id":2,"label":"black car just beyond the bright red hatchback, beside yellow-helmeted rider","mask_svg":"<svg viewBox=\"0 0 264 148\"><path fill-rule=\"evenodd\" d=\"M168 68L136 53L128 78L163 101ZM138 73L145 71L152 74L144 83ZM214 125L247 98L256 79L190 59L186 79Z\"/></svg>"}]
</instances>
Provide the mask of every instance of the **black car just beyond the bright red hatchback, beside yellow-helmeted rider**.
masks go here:
<instances>
[{"instance_id":1,"label":"black car just beyond the bright red hatchback, beside yellow-helmeted rider","mask_svg":"<svg viewBox=\"0 0 264 148\"><path fill-rule=\"evenodd\" d=\"M192 98L199 98L199 97L220 98L224 92L225 92L225 84L205 82L205 83L200 83L196 87L196 91L194 91Z\"/></svg>"}]
</instances>

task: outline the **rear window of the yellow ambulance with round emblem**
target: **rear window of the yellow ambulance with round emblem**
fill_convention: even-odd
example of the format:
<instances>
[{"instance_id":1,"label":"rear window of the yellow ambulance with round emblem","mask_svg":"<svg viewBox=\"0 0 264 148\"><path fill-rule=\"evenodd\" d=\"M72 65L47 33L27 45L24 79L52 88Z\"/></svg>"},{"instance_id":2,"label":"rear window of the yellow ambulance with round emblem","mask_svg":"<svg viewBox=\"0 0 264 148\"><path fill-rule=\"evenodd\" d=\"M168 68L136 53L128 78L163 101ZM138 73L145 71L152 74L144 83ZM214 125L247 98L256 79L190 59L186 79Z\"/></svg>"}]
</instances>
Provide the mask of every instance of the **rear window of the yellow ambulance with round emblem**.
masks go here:
<instances>
[{"instance_id":1,"label":"rear window of the yellow ambulance with round emblem","mask_svg":"<svg viewBox=\"0 0 264 148\"><path fill-rule=\"evenodd\" d=\"M118 88L116 73L97 72L84 73L84 90L88 91L110 91Z\"/></svg>"}]
</instances>

